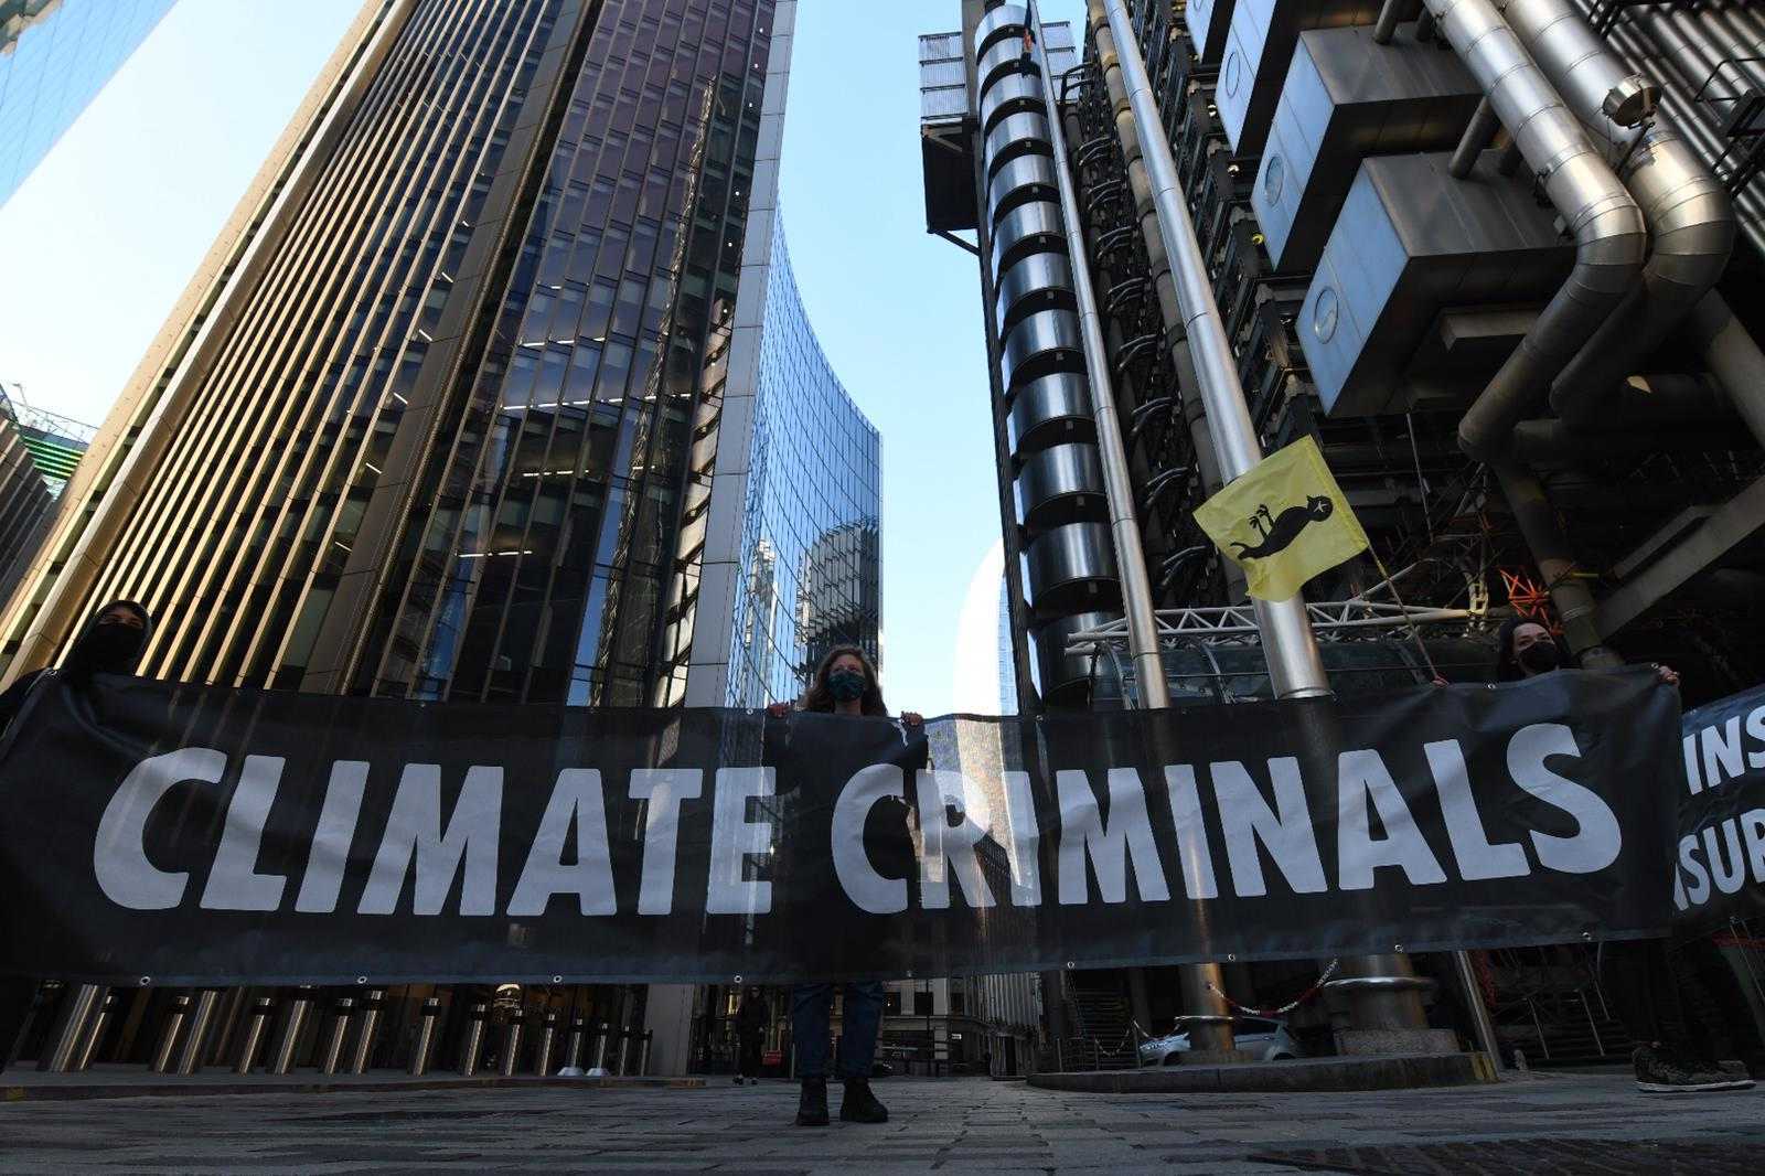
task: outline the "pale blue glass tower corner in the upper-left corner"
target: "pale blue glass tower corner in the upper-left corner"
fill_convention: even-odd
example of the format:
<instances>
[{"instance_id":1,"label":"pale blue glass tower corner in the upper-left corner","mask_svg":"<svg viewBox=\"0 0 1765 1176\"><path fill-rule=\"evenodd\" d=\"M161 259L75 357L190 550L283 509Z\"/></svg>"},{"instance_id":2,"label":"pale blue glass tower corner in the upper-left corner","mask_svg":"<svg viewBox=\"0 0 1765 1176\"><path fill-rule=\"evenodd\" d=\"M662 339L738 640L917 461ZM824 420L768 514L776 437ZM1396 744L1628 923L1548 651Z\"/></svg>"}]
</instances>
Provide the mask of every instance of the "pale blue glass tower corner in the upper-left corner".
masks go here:
<instances>
[{"instance_id":1,"label":"pale blue glass tower corner in the upper-left corner","mask_svg":"<svg viewBox=\"0 0 1765 1176\"><path fill-rule=\"evenodd\" d=\"M0 0L0 205L173 0Z\"/></svg>"}]
</instances>

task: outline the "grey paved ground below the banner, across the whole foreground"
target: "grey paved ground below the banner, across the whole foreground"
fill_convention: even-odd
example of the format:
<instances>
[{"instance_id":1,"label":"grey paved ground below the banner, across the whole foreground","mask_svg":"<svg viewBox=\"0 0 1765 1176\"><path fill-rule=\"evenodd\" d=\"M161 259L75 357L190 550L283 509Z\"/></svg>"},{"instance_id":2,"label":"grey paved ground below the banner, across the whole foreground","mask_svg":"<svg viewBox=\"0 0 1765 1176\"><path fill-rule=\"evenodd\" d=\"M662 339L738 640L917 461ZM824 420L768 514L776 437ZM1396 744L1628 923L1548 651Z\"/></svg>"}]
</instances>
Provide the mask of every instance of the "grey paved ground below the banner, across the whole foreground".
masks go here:
<instances>
[{"instance_id":1,"label":"grey paved ground below the banner, across the whole foreground","mask_svg":"<svg viewBox=\"0 0 1765 1176\"><path fill-rule=\"evenodd\" d=\"M1246 1097L891 1079L888 1125L821 1130L791 1127L787 1084L710 1082L21 1102L0 1105L0 1172L1765 1171L1765 1091L1649 1098L1620 1075Z\"/></svg>"}]
</instances>

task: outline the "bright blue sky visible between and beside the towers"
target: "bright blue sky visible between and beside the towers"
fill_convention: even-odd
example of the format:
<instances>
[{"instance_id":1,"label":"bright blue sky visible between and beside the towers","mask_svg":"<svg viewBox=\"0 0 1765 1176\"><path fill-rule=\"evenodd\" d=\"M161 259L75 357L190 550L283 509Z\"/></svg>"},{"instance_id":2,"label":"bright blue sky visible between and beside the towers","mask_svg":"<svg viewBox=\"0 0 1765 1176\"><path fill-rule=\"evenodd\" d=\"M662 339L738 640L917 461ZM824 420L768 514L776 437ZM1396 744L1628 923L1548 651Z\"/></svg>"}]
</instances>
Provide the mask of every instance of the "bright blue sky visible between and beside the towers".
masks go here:
<instances>
[{"instance_id":1,"label":"bright blue sky visible between and beside the towers","mask_svg":"<svg viewBox=\"0 0 1765 1176\"><path fill-rule=\"evenodd\" d=\"M9 390L104 418L358 9L178 0L0 208ZM1048 19L1078 14L1047 0ZM925 233L920 196L914 37L957 23L957 0L800 4L782 170L803 300L882 431L890 703L925 713L997 710L973 673L997 655L997 581L962 607L999 540L980 281Z\"/></svg>"}]
</instances>

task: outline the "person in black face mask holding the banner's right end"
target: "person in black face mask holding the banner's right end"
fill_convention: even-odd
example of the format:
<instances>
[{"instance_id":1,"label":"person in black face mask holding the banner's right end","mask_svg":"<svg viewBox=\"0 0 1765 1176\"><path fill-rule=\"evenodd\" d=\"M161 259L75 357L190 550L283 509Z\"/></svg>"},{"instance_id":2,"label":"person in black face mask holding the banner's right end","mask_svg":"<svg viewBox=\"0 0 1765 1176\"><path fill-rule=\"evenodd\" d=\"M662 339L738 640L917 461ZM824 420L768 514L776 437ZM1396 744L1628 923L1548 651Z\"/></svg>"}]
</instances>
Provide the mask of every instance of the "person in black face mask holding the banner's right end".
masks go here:
<instances>
[{"instance_id":1,"label":"person in black face mask holding the banner's right end","mask_svg":"<svg viewBox=\"0 0 1765 1176\"><path fill-rule=\"evenodd\" d=\"M1541 678L1567 664L1569 659L1557 637L1537 622L1516 616L1497 634L1498 682ZM1666 685L1679 685L1679 675L1666 666L1657 664L1654 669ZM1603 943L1599 973L1634 1042L1631 1068L1636 1074L1636 1089L1649 1095L1694 1095L1753 1084L1724 1074L1714 1061L1698 1058L1700 1051L1693 1044L1664 939Z\"/></svg>"}]
</instances>

